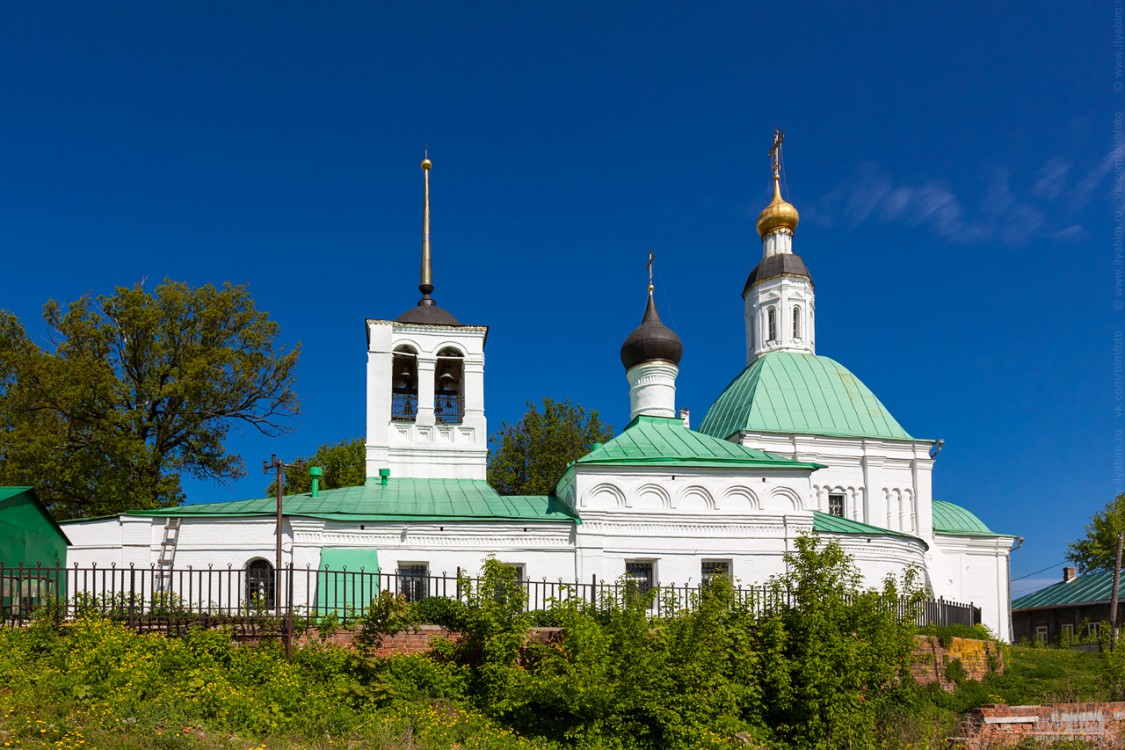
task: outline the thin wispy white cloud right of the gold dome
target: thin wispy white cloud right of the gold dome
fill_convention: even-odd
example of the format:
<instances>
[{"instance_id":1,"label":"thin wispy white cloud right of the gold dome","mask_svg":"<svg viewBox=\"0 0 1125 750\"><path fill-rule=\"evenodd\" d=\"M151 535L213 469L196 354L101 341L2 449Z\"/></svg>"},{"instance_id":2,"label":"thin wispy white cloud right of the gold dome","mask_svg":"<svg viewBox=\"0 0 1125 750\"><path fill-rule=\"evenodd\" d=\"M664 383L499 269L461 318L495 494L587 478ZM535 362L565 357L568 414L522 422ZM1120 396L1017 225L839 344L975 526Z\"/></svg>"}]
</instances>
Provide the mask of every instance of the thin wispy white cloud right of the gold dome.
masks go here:
<instances>
[{"instance_id":1,"label":"thin wispy white cloud right of the gold dome","mask_svg":"<svg viewBox=\"0 0 1125 750\"><path fill-rule=\"evenodd\" d=\"M1094 163L1053 156L1018 183L1011 172L992 168L972 193L958 193L944 180L896 179L879 164L864 164L847 182L812 201L802 213L814 224L856 227L866 222L906 224L963 243L1020 245L1034 237L1077 241L1088 235L1078 214L1120 174L1125 146ZM1120 201L1122 186L1114 184Z\"/></svg>"}]
</instances>

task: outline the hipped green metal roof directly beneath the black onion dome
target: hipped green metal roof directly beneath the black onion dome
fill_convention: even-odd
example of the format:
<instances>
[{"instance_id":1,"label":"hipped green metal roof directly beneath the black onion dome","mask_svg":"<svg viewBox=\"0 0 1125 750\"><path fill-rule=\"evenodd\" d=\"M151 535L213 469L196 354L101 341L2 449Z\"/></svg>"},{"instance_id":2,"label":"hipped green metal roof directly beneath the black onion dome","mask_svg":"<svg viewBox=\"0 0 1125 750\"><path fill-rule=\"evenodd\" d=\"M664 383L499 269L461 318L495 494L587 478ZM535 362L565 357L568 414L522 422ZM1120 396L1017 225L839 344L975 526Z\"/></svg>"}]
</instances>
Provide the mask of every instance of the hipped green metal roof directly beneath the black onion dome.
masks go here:
<instances>
[{"instance_id":1,"label":"hipped green metal roof directly beneath the black onion dome","mask_svg":"<svg viewBox=\"0 0 1125 750\"><path fill-rule=\"evenodd\" d=\"M674 467L766 467L777 469L822 469L819 463L791 461L765 451L693 432L683 419L640 416L624 431L598 445L578 464L663 464Z\"/></svg>"}]
</instances>

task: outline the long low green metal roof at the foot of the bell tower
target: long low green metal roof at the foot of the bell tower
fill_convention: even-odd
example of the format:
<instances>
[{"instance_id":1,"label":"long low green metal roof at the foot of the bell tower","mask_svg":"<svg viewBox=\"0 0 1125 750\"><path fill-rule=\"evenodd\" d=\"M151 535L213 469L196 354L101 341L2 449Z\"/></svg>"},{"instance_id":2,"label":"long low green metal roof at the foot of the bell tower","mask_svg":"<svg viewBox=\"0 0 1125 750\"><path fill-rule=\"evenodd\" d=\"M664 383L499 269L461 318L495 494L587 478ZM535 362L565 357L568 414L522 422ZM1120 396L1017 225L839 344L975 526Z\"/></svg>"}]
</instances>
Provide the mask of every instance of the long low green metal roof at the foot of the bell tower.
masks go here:
<instances>
[{"instance_id":1,"label":"long low green metal roof at the foot of the bell tower","mask_svg":"<svg viewBox=\"0 0 1125 750\"><path fill-rule=\"evenodd\" d=\"M360 487L287 495L282 513L326 521L547 521L575 523L554 497L501 497L478 479L411 479L390 477L386 486L368 479ZM230 503L181 505L161 510L129 510L135 516L267 516L277 513L272 497Z\"/></svg>"}]
</instances>

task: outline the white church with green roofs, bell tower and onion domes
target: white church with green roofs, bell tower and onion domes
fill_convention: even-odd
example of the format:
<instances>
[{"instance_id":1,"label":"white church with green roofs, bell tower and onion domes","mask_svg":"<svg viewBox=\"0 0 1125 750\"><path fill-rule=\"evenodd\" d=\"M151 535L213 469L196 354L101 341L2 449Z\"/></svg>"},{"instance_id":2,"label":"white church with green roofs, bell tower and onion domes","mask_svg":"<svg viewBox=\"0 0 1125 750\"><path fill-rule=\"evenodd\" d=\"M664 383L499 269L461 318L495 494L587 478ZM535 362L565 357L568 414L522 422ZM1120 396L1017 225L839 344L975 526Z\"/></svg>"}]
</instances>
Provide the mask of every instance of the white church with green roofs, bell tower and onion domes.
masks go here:
<instances>
[{"instance_id":1,"label":"white church with green roofs, bell tower and onion domes","mask_svg":"<svg viewBox=\"0 0 1125 750\"><path fill-rule=\"evenodd\" d=\"M289 495L284 564L398 573L476 571L489 554L526 580L744 585L784 571L817 532L852 554L864 582L914 568L929 593L981 608L1008 639L1016 536L932 494L934 441L912 437L844 365L816 352L814 284L793 252L796 209L781 195L757 222L762 260L742 289L746 368L692 430L676 408L680 338L649 284L624 340L629 425L559 478L549 497L502 497L485 481L487 326L438 307L430 262L430 169L422 298L367 320L367 484ZM65 524L69 563L235 568L272 577L273 498L129 512ZM314 573L315 576L315 573Z\"/></svg>"}]
</instances>

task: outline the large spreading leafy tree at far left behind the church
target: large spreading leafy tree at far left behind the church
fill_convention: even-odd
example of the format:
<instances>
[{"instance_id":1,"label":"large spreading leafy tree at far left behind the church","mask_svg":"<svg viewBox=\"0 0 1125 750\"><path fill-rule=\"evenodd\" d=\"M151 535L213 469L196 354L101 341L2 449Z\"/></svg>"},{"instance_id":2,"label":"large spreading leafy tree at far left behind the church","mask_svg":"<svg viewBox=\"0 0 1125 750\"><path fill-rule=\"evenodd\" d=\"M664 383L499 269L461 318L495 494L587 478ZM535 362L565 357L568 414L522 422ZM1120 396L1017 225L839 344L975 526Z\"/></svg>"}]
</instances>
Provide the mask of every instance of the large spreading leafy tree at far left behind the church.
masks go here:
<instances>
[{"instance_id":1,"label":"large spreading leafy tree at far left behind the church","mask_svg":"<svg viewBox=\"0 0 1125 750\"><path fill-rule=\"evenodd\" d=\"M0 481L35 485L58 515L177 505L183 473L245 473L233 425L285 432L299 346L245 286L164 281L43 309L48 345L0 313Z\"/></svg>"}]
</instances>

